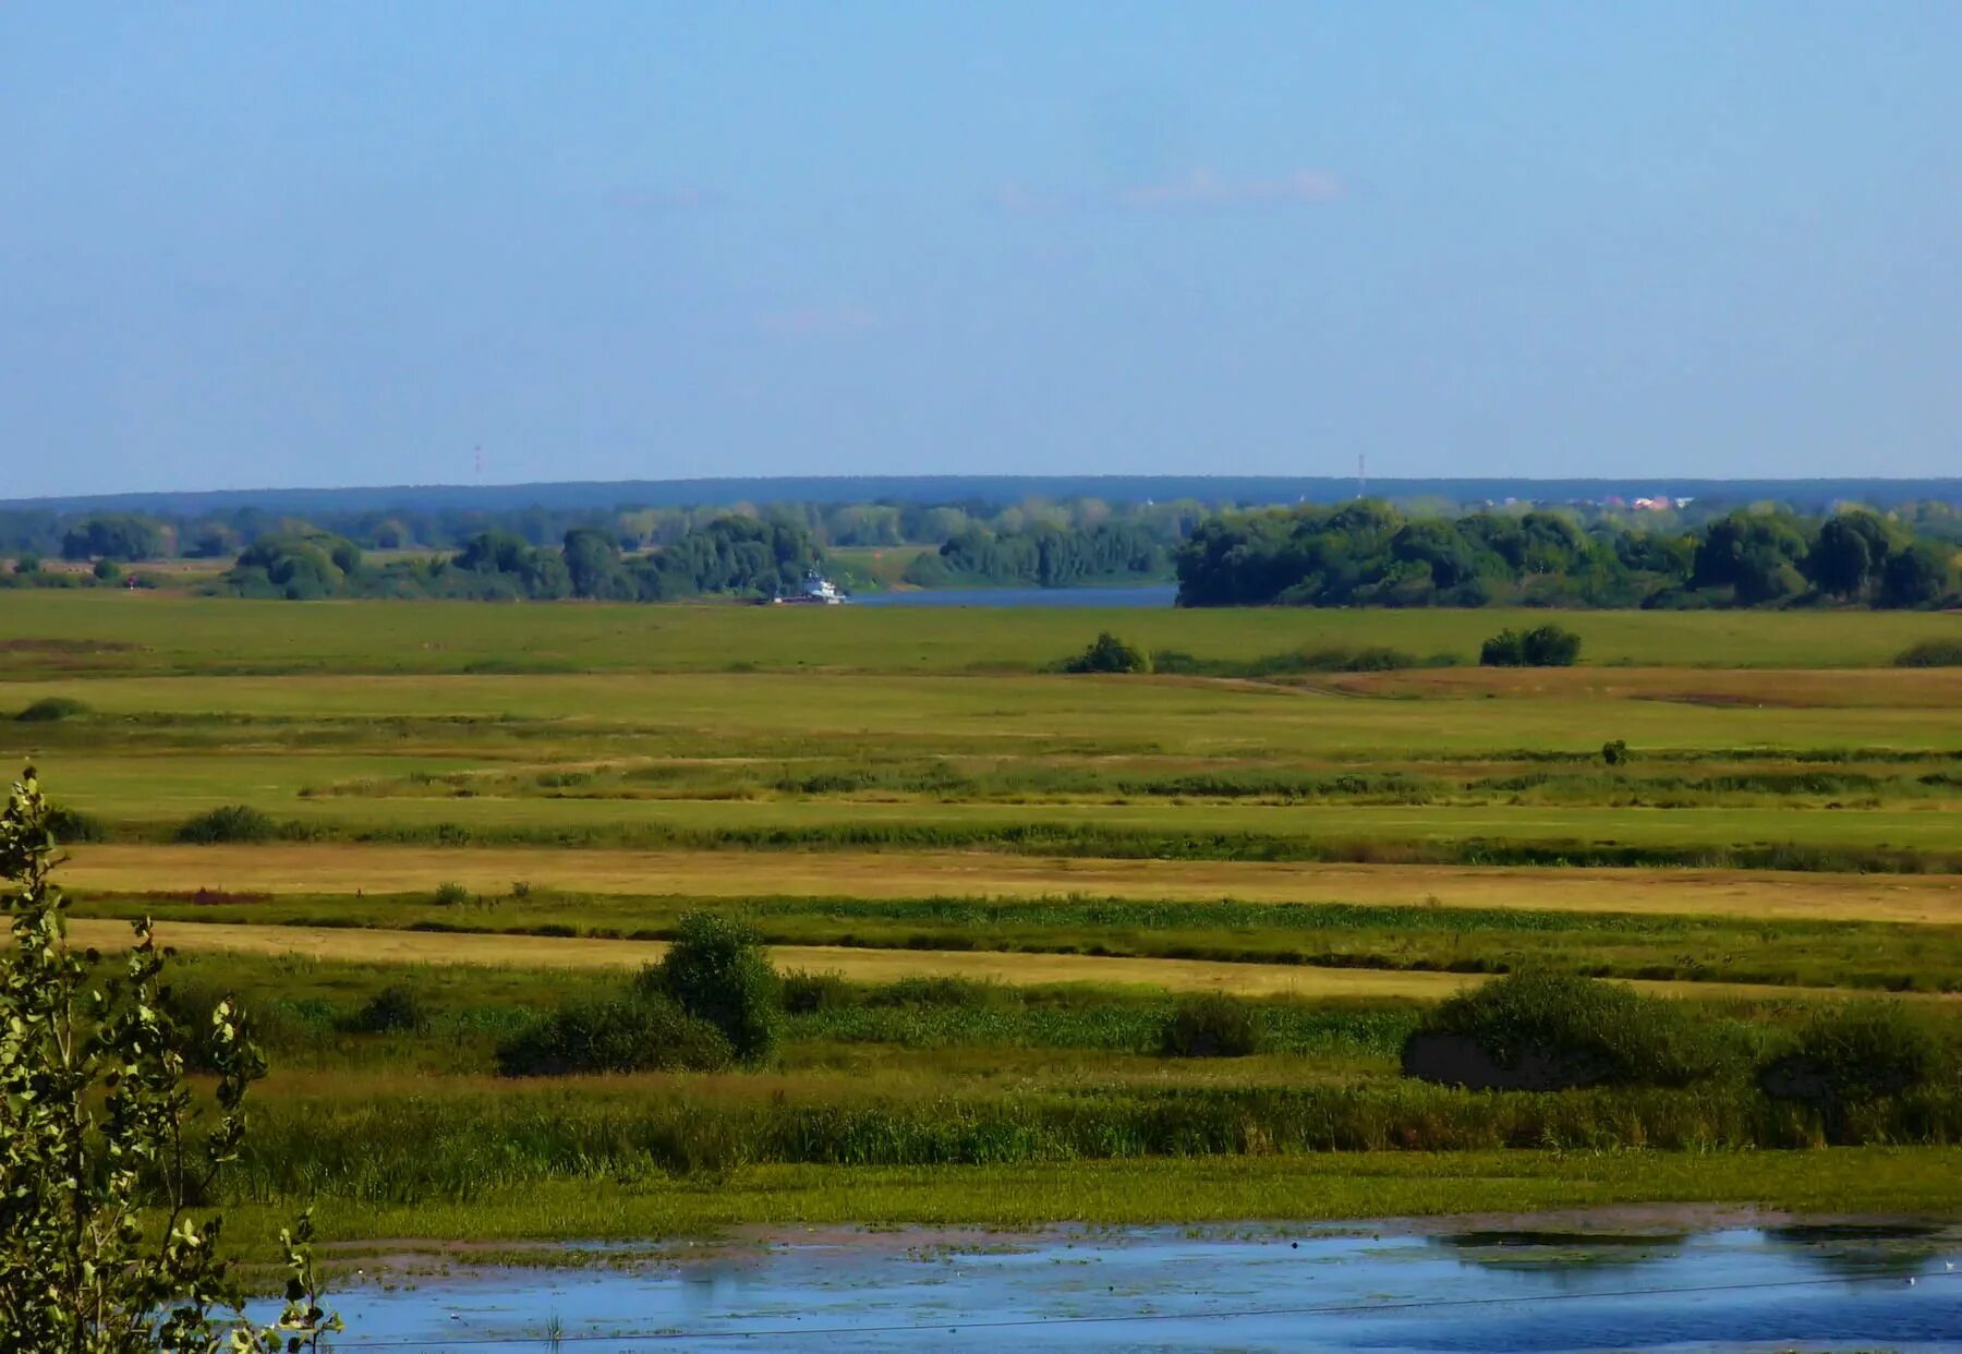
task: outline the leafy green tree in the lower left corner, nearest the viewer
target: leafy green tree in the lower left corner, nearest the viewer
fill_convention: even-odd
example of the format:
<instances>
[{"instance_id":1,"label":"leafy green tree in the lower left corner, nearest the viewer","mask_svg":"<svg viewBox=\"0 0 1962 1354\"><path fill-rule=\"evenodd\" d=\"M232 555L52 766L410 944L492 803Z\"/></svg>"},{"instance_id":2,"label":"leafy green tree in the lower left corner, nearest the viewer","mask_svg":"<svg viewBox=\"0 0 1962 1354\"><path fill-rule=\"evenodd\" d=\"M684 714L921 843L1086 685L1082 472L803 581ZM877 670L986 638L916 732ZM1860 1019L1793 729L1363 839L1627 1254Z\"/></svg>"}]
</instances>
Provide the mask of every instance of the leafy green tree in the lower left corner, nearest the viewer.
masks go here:
<instances>
[{"instance_id":1,"label":"leafy green tree in the lower left corner, nearest the viewer","mask_svg":"<svg viewBox=\"0 0 1962 1354\"><path fill-rule=\"evenodd\" d=\"M122 973L92 971L96 956L69 948L49 822L29 767L0 814L14 930L0 954L0 1348L316 1348L341 1327L320 1309L308 1217L283 1232L286 1305L261 1327L218 1250L222 1219L192 1213L237 1158L245 1087L265 1073L237 1007L218 1003L202 1036L218 1087L198 1130L190 1034L167 1015L149 922Z\"/></svg>"}]
</instances>

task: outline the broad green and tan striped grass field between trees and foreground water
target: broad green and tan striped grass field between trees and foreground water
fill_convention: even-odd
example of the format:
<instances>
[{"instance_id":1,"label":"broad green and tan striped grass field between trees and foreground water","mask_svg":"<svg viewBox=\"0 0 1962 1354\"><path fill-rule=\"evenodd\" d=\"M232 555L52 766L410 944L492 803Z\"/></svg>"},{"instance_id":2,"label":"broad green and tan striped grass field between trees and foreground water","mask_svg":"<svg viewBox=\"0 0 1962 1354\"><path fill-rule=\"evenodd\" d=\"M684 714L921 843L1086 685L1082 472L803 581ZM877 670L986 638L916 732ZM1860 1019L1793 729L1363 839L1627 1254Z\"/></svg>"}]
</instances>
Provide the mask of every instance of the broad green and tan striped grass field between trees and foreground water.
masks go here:
<instances>
[{"instance_id":1,"label":"broad green and tan striped grass field between trees and foreground water","mask_svg":"<svg viewBox=\"0 0 1962 1354\"><path fill-rule=\"evenodd\" d=\"M1766 1152L1825 1132L1742 1079L1493 1097L1407 1081L1397 1048L1526 963L1695 1001L1754 1048L1876 993L1954 1038L1962 671L1889 661L1962 618L1564 614L1572 671L1052 671L1101 628L1470 659L1538 620L4 593L0 755L100 838L67 867L80 936L165 918L186 991L259 1013L277 1071L228 1187L251 1228L300 1199L328 1236L514 1240L1950 1217L1948 1099L1862 1120L1866 1148ZM84 708L6 718L51 697ZM263 814L247 840L177 842L224 805ZM793 1016L759 1071L496 1075L500 1038L612 991L691 909L871 995ZM359 1024L390 985L426 1024ZM1160 1056L1171 991L1256 999L1269 1046ZM1046 1172L1073 1183L1030 1191Z\"/></svg>"}]
</instances>

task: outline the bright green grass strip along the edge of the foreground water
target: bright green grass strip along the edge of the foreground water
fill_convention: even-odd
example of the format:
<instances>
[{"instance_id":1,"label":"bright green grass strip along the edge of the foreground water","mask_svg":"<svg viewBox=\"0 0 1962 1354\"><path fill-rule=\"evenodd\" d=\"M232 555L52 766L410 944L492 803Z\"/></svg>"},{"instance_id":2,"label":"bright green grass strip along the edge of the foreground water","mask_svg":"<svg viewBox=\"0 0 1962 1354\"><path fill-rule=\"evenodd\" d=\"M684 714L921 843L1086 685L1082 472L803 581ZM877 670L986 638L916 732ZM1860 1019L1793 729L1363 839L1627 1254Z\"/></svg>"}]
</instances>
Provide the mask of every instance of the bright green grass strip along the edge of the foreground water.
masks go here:
<instances>
[{"instance_id":1,"label":"bright green grass strip along the edge of the foreground water","mask_svg":"<svg viewBox=\"0 0 1962 1354\"><path fill-rule=\"evenodd\" d=\"M1811 1152L1364 1152L1052 1166L751 1166L726 1179L561 1181L471 1201L314 1201L332 1270L439 1242L657 1240L738 1226L1326 1223L1613 1205L1954 1219L1962 1148ZM228 1211L275 1256L298 1199ZM534 1256L536 1258L536 1256Z\"/></svg>"}]
</instances>

